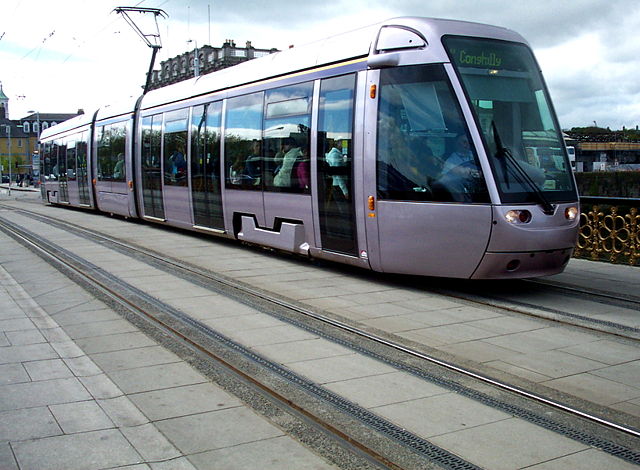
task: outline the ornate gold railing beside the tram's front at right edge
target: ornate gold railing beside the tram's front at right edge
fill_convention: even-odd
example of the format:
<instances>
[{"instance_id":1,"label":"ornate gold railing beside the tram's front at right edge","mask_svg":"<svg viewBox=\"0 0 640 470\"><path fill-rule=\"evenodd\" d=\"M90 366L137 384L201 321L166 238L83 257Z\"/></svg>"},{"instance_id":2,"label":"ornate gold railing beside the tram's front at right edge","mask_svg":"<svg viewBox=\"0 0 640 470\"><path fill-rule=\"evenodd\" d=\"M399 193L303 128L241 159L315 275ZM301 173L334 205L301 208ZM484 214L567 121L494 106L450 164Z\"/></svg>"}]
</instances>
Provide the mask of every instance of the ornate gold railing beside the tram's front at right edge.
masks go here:
<instances>
[{"instance_id":1,"label":"ornate gold railing beside the tram's front at right edge","mask_svg":"<svg viewBox=\"0 0 640 470\"><path fill-rule=\"evenodd\" d=\"M636 265L640 260L638 199L581 198L574 257Z\"/></svg>"}]
</instances>

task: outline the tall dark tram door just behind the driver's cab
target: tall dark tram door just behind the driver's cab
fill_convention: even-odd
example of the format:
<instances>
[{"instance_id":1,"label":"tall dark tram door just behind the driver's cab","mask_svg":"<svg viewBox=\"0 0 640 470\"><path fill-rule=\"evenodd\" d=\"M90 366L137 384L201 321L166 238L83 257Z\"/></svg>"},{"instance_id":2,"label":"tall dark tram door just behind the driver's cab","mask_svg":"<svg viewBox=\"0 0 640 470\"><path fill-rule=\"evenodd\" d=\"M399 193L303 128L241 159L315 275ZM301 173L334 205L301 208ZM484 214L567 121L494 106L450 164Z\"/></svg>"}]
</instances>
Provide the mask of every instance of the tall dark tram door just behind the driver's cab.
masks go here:
<instances>
[{"instance_id":1,"label":"tall dark tram door just behind the driver's cab","mask_svg":"<svg viewBox=\"0 0 640 470\"><path fill-rule=\"evenodd\" d=\"M318 215L322 249L357 255L353 191L355 74L321 80L318 109Z\"/></svg>"}]
</instances>

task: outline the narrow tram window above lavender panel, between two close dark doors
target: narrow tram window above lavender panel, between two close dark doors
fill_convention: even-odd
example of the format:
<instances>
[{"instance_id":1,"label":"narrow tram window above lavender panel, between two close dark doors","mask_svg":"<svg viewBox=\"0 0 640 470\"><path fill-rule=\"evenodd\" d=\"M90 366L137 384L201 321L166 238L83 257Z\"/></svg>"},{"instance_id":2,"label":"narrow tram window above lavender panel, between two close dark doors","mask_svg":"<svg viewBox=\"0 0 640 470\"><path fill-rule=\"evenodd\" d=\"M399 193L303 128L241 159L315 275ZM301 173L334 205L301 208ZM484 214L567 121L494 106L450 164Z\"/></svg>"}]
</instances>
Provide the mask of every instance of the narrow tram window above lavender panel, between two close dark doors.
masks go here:
<instances>
[{"instance_id":1,"label":"narrow tram window above lavender panel, between two close dark doors","mask_svg":"<svg viewBox=\"0 0 640 470\"><path fill-rule=\"evenodd\" d=\"M187 125L189 108L164 116L164 184L187 186Z\"/></svg>"}]
</instances>

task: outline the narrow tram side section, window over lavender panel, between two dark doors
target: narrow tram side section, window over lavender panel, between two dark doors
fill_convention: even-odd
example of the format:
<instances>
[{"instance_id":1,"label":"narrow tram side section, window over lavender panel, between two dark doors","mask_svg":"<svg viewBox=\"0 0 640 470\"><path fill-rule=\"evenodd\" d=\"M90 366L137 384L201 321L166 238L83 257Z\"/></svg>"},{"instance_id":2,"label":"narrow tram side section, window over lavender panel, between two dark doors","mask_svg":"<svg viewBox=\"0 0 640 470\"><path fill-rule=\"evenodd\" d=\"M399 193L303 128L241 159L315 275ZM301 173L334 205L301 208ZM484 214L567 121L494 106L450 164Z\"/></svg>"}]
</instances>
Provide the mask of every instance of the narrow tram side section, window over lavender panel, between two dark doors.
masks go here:
<instances>
[{"instance_id":1,"label":"narrow tram side section, window over lavender panel, between two dark doors","mask_svg":"<svg viewBox=\"0 0 640 470\"><path fill-rule=\"evenodd\" d=\"M164 114L162 175L165 219L191 226L191 201L187 177L189 108Z\"/></svg>"}]
</instances>

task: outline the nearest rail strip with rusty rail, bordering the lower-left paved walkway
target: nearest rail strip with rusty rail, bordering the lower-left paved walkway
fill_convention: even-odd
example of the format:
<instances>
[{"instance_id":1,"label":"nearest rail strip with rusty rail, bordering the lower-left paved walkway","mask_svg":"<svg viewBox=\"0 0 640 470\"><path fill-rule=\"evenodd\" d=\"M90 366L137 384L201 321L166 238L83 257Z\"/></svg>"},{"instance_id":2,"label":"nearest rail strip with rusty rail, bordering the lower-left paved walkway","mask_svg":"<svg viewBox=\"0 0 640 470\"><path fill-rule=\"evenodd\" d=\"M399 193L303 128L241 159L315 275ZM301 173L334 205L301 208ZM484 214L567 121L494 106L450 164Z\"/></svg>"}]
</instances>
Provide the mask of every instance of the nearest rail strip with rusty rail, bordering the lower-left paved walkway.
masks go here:
<instances>
[{"instance_id":1,"label":"nearest rail strip with rusty rail, bordering the lower-left paved walkway","mask_svg":"<svg viewBox=\"0 0 640 470\"><path fill-rule=\"evenodd\" d=\"M294 374L291 374L283 367L259 357L238 343L224 337L224 335L216 333L210 328L185 316L182 312L176 311L171 306L159 302L143 292L136 292L137 289L132 286L128 286L126 283L106 275L100 268L91 266L90 263L84 262L77 256L70 254L67 250L57 247L55 244L48 243L43 238L21 229L16 224L0 219L0 230L29 247L43 258L52 261L63 271L67 271L87 282L91 288L97 289L108 299L115 300L116 303L131 312L136 319L142 319L143 322L159 328L161 334L171 335L197 354L204 355L216 363L222 364L225 369L231 371L242 381L258 389L261 394L266 395L269 401L275 402L277 407L287 410L294 416L301 417L307 424L311 423L311 425L316 428L316 431L330 435L330 438L333 440L338 440L342 448L355 449L356 454L361 457L364 456L366 461L373 464L368 468L479 469L479 467L464 461L444 449L430 444L428 441L392 423L384 422L384 420L381 420L367 410L348 403L340 397L335 396L335 394L327 393L326 391L322 393L322 390L319 390L319 387L310 381L295 377ZM137 323L139 324L139 322ZM219 344L213 345L212 342L222 343L227 351L217 353L216 350L219 350L220 346ZM327 400L327 398L329 398L328 401L333 401L334 404L336 402L341 404L342 407L347 409L351 414L348 419L359 419L370 425L373 423L378 428L383 428L385 433L389 435L388 440L395 441L391 444L385 442L381 445L392 457L390 458L383 455L375 449L374 445L362 442L357 436L347 434L338 426L332 424L326 416L309 412L305 406L296 403L296 400L281 394L273 384L267 385L269 380L262 382L256 379L253 375L255 372L253 374L248 373L243 370L243 367L236 365L238 362L237 359L229 359L229 350L232 350L232 353L240 352L246 358L251 359L254 367L249 366L247 369L255 369L255 363L258 363L270 369L272 372L276 370L280 373L282 380L289 383L293 382L297 386L303 385L307 388L307 391L314 392L320 399ZM246 361L240 362L246 363ZM291 395L291 393L289 394ZM329 396L323 397L322 395ZM335 414L326 414L335 417ZM371 440L370 436L368 437L369 440ZM410 455L406 455L407 449L410 451ZM396 461L399 460L402 464L395 463L392 459ZM427 462L426 466L425 460Z\"/></svg>"}]
</instances>

